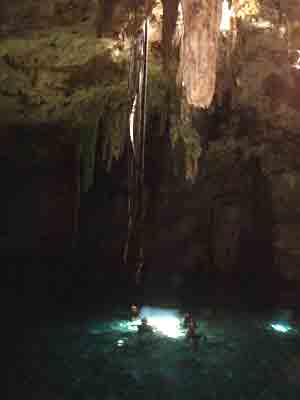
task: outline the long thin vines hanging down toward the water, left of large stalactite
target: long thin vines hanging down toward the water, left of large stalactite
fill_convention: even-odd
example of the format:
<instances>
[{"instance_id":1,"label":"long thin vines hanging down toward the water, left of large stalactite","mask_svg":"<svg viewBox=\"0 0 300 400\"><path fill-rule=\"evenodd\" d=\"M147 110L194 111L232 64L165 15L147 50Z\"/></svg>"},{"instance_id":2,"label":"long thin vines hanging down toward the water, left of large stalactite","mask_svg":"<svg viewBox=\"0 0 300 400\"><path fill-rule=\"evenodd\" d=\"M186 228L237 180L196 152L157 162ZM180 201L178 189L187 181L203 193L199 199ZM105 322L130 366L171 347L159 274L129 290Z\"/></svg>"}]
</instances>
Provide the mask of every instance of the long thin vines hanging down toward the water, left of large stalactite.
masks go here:
<instances>
[{"instance_id":1,"label":"long thin vines hanging down toward the water, left of large stalactite","mask_svg":"<svg viewBox=\"0 0 300 400\"><path fill-rule=\"evenodd\" d=\"M123 260L128 262L132 249L136 283L140 282L144 264L143 230L145 219L144 157L147 113L148 75L148 18L143 29L137 32L133 42L129 68L128 111L128 234L124 246Z\"/></svg>"}]
</instances>

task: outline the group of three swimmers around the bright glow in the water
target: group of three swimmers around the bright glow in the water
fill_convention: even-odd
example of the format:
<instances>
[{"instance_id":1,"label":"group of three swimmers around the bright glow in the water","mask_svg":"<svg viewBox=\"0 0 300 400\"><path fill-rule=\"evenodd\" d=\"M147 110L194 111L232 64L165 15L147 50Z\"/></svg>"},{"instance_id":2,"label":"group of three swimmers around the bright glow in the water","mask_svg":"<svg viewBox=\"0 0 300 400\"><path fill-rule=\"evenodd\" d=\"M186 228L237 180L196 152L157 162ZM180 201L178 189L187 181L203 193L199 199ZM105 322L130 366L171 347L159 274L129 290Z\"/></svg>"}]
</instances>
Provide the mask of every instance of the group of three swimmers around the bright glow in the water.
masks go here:
<instances>
[{"instance_id":1,"label":"group of three swimmers around the bright glow in the water","mask_svg":"<svg viewBox=\"0 0 300 400\"><path fill-rule=\"evenodd\" d=\"M131 320L136 320L138 318L139 318L139 309L136 305L133 304L131 306ZM182 327L186 329L186 335L185 335L186 339L191 343L192 349L196 351L198 349L199 335L196 332L197 323L190 312L184 315L182 321ZM147 318L143 317L141 320L141 324L138 327L138 333L143 334L152 332L153 332L152 326L149 324Z\"/></svg>"}]
</instances>

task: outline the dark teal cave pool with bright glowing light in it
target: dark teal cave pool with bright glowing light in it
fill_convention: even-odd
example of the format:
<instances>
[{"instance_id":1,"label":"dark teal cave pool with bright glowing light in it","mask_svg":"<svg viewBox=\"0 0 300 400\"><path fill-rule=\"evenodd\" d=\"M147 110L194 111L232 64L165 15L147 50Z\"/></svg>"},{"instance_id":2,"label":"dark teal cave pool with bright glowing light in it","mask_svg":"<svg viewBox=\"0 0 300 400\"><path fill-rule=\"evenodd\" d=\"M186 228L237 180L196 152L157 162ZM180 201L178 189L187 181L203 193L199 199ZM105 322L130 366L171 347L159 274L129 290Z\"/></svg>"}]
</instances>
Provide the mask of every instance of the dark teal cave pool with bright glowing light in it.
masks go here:
<instances>
[{"instance_id":1,"label":"dark teal cave pool with bright glowing light in it","mask_svg":"<svg viewBox=\"0 0 300 400\"><path fill-rule=\"evenodd\" d=\"M199 308L197 351L178 325L182 310L147 313L156 329L145 337L118 307L28 327L26 343L16 344L9 398L300 399L300 331L285 313Z\"/></svg>"}]
</instances>

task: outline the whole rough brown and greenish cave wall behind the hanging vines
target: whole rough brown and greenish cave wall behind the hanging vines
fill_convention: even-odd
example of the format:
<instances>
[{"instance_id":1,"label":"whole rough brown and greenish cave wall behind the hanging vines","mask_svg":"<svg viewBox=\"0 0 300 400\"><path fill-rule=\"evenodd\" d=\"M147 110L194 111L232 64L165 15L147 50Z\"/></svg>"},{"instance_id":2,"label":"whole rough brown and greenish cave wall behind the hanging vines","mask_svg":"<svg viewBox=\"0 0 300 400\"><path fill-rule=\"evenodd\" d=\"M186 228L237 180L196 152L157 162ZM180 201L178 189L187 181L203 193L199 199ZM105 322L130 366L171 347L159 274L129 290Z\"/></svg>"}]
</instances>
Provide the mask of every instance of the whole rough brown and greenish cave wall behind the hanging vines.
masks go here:
<instances>
[{"instance_id":1,"label":"whole rough brown and greenish cave wall behind the hanging vines","mask_svg":"<svg viewBox=\"0 0 300 400\"><path fill-rule=\"evenodd\" d=\"M17 2L1 13L0 247L37 257L75 247L81 268L101 281L103 271L128 275L128 43L97 38L89 4L78 17L71 6L64 17L30 12L38 17L26 26ZM10 12L19 16L3 18ZM145 252L151 285L164 289L199 283L198 273L261 296L270 277L300 280L298 25L264 2L233 26L219 37L213 103L195 111L192 128L177 126L175 89L166 107L170 82L160 45L150 44Z\"/></svg>"}]
</instances>

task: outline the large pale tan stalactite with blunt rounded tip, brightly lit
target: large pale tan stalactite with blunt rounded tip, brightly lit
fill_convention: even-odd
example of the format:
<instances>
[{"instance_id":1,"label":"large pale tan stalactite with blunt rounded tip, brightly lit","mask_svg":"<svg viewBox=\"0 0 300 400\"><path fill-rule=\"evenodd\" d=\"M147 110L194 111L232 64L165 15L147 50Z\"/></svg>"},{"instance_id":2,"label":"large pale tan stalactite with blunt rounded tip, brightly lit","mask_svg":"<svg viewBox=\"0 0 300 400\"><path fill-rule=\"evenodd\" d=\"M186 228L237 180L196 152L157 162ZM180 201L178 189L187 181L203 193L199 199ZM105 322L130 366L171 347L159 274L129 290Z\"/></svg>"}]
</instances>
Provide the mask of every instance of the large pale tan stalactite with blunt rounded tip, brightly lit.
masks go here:
<instances>
[{"instance_id":1,"label":"large pale tan stalactite with blunt rounded tip, brightly lit","mask_svg":"<svg viewBox=\"0 0 300 400\"><path fill-rule=\"evenodd\" d=\"M182 78L188 102L210 106L216 81L221 0L182 0L184 40Z\"/></svg>"}]
</instances>

